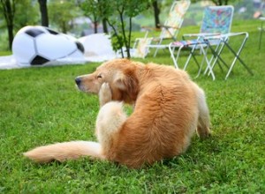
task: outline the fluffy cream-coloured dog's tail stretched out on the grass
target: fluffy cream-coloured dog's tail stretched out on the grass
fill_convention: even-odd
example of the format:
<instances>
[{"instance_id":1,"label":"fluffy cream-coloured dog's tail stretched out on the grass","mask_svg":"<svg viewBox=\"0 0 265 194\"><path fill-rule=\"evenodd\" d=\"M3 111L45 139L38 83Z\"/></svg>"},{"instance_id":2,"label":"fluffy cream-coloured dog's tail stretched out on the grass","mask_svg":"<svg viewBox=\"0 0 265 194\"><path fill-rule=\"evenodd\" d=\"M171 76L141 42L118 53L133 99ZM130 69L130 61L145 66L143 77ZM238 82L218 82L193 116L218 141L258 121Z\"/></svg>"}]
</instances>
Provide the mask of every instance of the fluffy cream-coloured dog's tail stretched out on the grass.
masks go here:
<instances>
[{"instance_id":1,"label":"fluffy cream-coloured dog's tail stretched out on the grass","mask_svg":"<svg viewBox=\"0 0 265 194\"><path fill-rule=\"evenodd\" d=\"M52 160L74 160L81 156L91 156L93 159L104 159L101 145L91 141L71 141L49 146L40 146L23 154L29 159L40 163Z\"/></svg>"}]
</instances>

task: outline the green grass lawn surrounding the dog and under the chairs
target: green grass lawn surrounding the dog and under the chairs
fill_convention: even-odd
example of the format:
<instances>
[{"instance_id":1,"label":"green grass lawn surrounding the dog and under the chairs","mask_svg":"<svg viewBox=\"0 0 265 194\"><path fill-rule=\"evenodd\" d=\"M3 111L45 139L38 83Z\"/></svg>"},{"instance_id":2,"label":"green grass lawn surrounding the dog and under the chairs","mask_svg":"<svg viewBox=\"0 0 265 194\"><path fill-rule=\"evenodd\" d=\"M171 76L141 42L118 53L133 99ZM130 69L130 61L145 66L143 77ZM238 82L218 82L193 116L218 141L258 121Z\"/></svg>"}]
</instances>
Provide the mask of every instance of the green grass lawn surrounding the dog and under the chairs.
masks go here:
<instances>
[{"instance_id":1,"label":"green grass lawn surrounding the dog and under the chairs","mask_svg":"<svg viewBox=\"0 0 265 194\"><path fill-rule=\"evenodd\" d=\"M21 154L53 142L95 140L97 97L79 93L74 78L99 63L0 71L0 193L264 193L265 40L258 50L259 25L244 21L233 28L250 33L241 56L254 76L236 63L227 81L217 67L216 81L194 79L207 93L213 136L194 136L185 154L138 170L87 159L39 165ZM192 31L198 27L181 33ZM224 51L223 58L231 55ZM163 52L143 61L172 65ZM188 71L194 77L196 65Z\"/></svg>"}]
</instances>

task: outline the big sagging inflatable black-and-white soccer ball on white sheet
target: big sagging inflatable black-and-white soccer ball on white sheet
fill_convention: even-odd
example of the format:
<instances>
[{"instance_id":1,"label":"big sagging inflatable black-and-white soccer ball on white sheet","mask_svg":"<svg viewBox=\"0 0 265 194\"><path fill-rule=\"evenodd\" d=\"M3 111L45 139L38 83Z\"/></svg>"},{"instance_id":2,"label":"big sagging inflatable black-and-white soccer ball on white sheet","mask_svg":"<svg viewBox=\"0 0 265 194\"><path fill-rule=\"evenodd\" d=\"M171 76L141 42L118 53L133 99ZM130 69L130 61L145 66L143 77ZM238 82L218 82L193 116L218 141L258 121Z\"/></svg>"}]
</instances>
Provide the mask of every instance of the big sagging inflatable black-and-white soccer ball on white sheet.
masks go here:
<instances>
[{"instance_id":1,"label":"big sagging inflatable black-and-white soccer ball on white sheet","mask_svg":"<svg viewBox=\"0 0 265 194\"><path fill-rule=\"evenodd\" d=\"M70 35L44 26L25 26L12 42L12 52L22 66L42 65L64 57L83 57L83 45Z\"/></svg>"}]
</instances>

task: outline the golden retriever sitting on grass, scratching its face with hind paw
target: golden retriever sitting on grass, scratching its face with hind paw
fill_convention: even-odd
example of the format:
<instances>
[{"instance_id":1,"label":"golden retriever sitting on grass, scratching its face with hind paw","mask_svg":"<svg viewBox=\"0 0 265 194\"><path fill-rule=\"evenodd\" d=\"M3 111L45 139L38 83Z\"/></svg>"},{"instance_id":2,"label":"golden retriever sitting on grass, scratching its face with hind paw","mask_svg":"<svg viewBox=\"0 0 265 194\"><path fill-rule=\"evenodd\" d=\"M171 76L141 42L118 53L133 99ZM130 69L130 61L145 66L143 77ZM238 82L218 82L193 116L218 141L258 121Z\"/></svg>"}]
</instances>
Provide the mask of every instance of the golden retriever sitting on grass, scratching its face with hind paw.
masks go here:
<instances>
[{"instance_id":1,"label":"golden retriever sitting on grass, scratching its face with hind paw","mask_svg":"<svg viewBox=\"0 0 265 194\"><path fill-rule=\"evenodd\" d=\"M185 71L115 59L75 81L79 90L99 95L98 143L41 146L24 153L28 158L49 162L90 156L141 168L184 153L194 131L202 138L210 134L205 94ZM133 104L131 116L123 103Z\"/></svg>"}]
</instances>

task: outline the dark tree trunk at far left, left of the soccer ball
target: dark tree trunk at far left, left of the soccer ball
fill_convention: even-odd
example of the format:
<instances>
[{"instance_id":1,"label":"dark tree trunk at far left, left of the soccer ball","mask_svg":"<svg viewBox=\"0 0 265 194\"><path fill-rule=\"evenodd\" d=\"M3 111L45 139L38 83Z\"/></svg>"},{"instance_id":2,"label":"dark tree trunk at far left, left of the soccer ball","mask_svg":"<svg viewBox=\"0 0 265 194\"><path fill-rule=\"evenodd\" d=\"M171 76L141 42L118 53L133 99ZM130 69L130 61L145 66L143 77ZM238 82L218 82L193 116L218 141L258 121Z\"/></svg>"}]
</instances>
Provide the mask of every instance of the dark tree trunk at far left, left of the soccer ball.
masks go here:
<instances>
[{"instance_id":1,"label":"dark tree trunk at far left, left of the soccer ball","mask_svg":"<svg viewBox=\"0 0 265 194\"><path fill-rule=\"evenodd\" d=\"M14 39L14 16L16 11L16 0L0 0L1 9L4 14L4 20L7 26L9 48L12 47L12 41Z\"/></svg>"}]
</instances>

